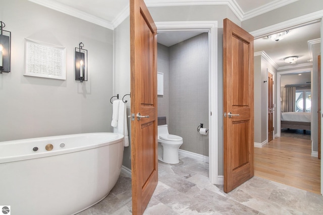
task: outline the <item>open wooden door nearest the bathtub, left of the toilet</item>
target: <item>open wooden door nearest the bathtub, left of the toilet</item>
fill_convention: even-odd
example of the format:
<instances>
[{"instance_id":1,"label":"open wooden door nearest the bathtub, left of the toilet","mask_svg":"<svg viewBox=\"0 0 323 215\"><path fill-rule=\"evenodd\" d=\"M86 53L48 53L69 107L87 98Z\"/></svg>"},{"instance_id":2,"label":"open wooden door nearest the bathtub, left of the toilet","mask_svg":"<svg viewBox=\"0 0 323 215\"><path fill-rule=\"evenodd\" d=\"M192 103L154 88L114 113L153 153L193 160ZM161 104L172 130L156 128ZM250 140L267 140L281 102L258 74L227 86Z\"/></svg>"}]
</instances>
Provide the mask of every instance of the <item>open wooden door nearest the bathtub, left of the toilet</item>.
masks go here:
<instances>
[{"instance_id":1,"label":"open wooden door nearest the bathtub, left of the toilet","mask_svg":"<svg viewBox=\"0 0 323 215\"><path fill-rule=\"evenodd\" d=\"M133 214L144 212L158 182L156 35L157 28L144 1L131 0L131 114L134 116L131 119Z\"/></svg>"}]
</instances>

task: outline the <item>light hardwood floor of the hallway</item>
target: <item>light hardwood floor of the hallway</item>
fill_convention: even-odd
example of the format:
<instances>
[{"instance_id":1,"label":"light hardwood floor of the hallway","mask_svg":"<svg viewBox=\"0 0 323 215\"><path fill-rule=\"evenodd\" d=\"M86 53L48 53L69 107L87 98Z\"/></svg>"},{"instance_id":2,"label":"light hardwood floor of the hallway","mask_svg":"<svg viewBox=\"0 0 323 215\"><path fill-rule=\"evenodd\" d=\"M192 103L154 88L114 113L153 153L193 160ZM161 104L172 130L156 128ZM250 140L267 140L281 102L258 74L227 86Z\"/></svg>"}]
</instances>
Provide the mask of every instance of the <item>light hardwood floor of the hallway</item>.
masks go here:
<instances>
[{"instance_id":1,"label":"light hardwood floor of the hallway","mask_svg":"<svg viewBox=\"0 0 323 215\"><path fill-rule=\"evenodd\" d=\"M311 157L310 135L285 133L254 148L255 176L320 194L320 160Z\"/></svg>"}]
</instances>

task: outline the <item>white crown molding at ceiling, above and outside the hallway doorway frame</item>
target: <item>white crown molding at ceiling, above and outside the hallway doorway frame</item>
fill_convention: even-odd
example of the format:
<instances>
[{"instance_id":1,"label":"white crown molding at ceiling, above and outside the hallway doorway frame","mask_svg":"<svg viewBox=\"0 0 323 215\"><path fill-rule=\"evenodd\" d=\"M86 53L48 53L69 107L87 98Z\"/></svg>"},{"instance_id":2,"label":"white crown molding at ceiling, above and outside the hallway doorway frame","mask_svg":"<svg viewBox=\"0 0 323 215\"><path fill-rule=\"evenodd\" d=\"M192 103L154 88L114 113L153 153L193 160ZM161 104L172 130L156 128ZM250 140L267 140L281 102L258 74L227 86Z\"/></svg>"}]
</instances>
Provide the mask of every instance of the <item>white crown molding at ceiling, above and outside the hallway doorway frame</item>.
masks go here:
<instances>
[{"instance_id":1,"label":"white crown molding at ceiling, above and outside the hallway doorway frame","mask_svg":"<svg viewBox=\"0 0 323 215\"><path fill-rule=\"evenodd\" d=\"M235 0L233 0L235 1ZM261 14L267 13L269 11L275 10L277 8L283 7L285 5L289 5L293 2L297 2L298 0L276 0L271 3L267 3L259 8L255 8L251 11L248 11L247 13L243 14L243 18L241 21L245 21L248 19L251 19L253 17L259 16Z\"/></svg>"}]
</instances>

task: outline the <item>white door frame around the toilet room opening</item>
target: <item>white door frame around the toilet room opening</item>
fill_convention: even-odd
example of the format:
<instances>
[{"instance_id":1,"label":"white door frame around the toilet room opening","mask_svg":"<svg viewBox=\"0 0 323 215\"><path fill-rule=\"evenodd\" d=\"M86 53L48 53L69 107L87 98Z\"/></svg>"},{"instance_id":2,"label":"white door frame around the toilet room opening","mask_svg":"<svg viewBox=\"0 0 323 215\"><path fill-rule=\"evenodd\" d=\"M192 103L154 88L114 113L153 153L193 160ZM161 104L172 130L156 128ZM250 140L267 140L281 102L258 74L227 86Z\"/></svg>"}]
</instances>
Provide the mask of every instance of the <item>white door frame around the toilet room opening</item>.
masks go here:
<instances>
[{"instance_id":1,"label":"white door frame around the toilet room opening","mask_svg":"<svg viewBox=\"0 0 323 215\"><path fill-rule=\"evenodd\" d=\"M157 32L187 31L208 32L209 42L209 180L212 184L223 184L218 175L218 22L155 22Z\"/></svg>"}]
</instances>

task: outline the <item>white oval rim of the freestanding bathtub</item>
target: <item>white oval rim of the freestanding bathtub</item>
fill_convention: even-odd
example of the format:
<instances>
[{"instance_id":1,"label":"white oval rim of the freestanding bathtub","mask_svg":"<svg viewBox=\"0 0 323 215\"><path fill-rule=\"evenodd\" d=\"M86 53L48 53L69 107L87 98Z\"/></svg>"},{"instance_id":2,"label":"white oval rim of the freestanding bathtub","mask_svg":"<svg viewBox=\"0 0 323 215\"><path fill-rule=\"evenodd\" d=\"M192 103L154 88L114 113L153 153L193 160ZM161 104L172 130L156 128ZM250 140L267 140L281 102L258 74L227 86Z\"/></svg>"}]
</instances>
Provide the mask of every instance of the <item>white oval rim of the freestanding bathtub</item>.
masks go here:
<instances>
[{"instance_id":1,"label":"white oval rim of the freestanding bathtub","mask_svg":"<svg viewBox=\"0 0 323 215\"><path fill-rule=\"evenodd\" d=\"M50 156L58 156L62 154L68 154L68 153L75 153L78 151L84 151L84 150L90 150L95 148L100 148L104 146L109 146L112 144L117 144L119 142L124 141L124 135L120 133L113 133L113 132L92 132L92 133L77 133L77 134L64 134L64 135L54 135L54 136L44 136L44 137L34 137L34 138L26 138L26 139L17 139L17 140L9 140L9 141L2 141L0 142L0 149L3 146L10 145L10 144L20 144L21 141L46 141L46 139L53 139L53 138L66 138L66 137L76 137L76 136L86 136L86 135L95 135L95 134L114 134L117 135L116 138L113 138L108 141L100 141L96 142L92 145L85 145L81 147L73 147L70 149L62 149L62 150L56 150L56 151L48 151L48 152L30 152L26 155L18 155L18 156L8 156L8 157L0 157L0 164L10 163L10 162L18 162L18 161L24 161L24 160L31 160L31 159L37 159L37 158L43 158L43 157L50 157ZM20 142L19 142L20 141ZM34 146L31 146L31 149Z\"/></svg>"}]
</instances>

